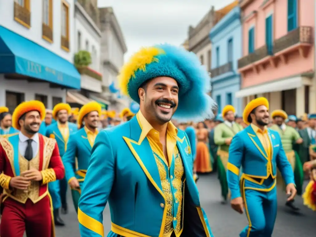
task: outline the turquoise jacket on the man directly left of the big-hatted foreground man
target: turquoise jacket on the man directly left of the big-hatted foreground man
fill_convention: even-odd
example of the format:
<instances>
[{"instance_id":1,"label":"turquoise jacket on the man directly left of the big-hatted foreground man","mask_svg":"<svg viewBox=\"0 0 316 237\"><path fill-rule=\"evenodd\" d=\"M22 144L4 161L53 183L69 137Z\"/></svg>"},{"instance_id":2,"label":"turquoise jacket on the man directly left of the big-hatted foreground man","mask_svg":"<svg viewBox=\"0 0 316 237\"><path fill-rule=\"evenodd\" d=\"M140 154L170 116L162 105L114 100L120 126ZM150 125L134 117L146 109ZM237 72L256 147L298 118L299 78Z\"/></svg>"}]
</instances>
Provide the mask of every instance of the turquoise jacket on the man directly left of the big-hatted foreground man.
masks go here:
<instances>
[{"instance_id":1,"label":"turquoise jacket on the man directly left of the big-hatted foreground man","mask_svg":"<svg viewBox=\"0 0 316 237\"><path fill-rule=\"evenodd\" d=\"M66 171L66 179L76 177L82 188L83 180L86 176L92 147L89 143L87 133L84 128L70 135L67 150L63 155L63 163ZM76 164L77 157L77 164ZM75 166L77 165L77 166ZM74 167L76 167L74 169Z\"/></svg>"}]
</instances>

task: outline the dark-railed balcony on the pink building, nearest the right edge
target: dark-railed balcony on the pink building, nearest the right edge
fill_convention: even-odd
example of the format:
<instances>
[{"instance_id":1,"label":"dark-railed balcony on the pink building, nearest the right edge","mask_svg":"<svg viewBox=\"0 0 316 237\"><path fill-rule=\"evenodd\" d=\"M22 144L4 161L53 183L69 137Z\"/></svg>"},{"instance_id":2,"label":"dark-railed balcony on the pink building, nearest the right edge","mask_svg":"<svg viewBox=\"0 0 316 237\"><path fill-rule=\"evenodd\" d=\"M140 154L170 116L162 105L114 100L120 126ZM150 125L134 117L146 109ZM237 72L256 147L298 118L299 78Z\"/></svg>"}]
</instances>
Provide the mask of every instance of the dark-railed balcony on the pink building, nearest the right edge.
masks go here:
<instances>
[{"instance_id":1,"label":"dark-railed balcony on the pink building, nearest the right edge","mask_svg":"<svg viewBox=\"0 0 316 237\"><path fill-rule=\"evenodd\" d=\"M273 54L286 61L286 55L298 50L300 55L307 57L310 47L313 45L313 28L301 26L290 31L285 36L274 41Z\"/></svg>"}]
</instances>

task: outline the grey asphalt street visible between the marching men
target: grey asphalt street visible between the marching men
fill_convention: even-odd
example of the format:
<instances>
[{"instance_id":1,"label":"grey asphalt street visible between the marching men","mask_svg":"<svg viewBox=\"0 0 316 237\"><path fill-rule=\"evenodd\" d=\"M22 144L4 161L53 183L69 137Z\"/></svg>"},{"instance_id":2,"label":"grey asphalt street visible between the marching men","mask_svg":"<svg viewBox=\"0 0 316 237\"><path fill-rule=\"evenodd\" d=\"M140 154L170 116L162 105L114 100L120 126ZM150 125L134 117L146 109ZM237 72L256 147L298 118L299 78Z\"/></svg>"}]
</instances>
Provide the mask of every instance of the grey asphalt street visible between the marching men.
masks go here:
<instances>
[{"instance_id":1,"label":"grey asphalt street visible between the marching men","mask_svg":"<svg viewBox=\"0 0 316 237\"><path fill-rule=\"evenodd\" d=\"M220 203L220 185L217 174L200 175L197 182L201 205L209 219L215 237L237 237L247 225L246 215L240 215L231 209L230 205ZM316 212L303 205L302 198L297 197L295 204L301 208L299 215L292 213L284 206L286 195L278 190L278 214L273 237L312 237L315 236ZM76 211L72 205L70 193L68 194L69 213L62 215L65 227L56 227L56 237L80 236ZM103 213L105 236L111 229L111 217L108 206ZM192 236L193 237L193 236Z\"/></svg>"}]
</instances>

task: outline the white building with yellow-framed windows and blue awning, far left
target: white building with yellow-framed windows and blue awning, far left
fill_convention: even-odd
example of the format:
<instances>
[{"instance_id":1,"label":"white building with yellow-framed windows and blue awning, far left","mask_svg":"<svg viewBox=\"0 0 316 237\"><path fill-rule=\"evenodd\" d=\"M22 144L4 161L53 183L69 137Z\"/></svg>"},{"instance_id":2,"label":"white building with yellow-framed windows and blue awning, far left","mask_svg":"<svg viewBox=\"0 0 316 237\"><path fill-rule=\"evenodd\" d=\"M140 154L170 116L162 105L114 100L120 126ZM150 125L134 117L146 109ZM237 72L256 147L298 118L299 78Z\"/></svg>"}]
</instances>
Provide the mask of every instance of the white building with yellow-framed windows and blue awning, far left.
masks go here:
<instances>
[{"instance_id":1,"label":"white building with yellow-framed windows and blue awning, far left","mask_svg":"<svg viewBox=\"0 0 316 237\"><path fill-rule=\"evenodd\" d=\"M0 7L0 106L41 100L47 108L80 89L73 66L75 0L3 0Z\"/></svg>"}]
</instances>

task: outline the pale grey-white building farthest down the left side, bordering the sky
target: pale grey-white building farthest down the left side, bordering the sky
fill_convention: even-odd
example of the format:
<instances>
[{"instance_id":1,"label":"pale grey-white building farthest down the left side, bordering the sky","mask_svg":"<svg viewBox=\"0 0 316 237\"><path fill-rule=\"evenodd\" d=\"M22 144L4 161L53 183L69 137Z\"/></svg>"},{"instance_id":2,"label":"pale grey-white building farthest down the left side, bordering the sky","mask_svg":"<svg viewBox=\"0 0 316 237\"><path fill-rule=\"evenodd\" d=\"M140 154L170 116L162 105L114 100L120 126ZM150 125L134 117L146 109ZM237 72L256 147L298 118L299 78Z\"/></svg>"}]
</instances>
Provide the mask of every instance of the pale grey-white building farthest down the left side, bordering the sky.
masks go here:
<instances>
[{"instance_id":1,"label":"pale grey-white building farthest down the left side, bordering the sky","mask_svg":"<svg viewBox=\"0 0 316 237\"><path fill-rule=\"evenodd\" d=\"M124 64L124 54L127 52L124 36L112 7L99 8L101 30L101 71L102 97L110 101L109 110L120 112L130 106L126 97L120 97L115 92L118 87L117 75Z\"/></svg>"}]
</instances>

